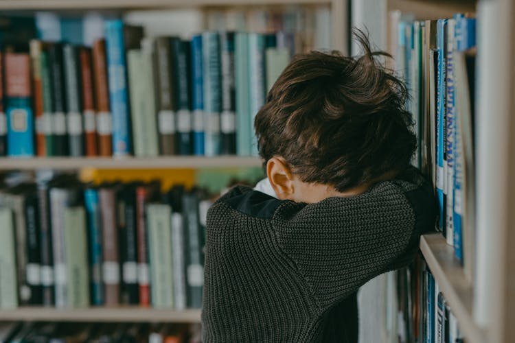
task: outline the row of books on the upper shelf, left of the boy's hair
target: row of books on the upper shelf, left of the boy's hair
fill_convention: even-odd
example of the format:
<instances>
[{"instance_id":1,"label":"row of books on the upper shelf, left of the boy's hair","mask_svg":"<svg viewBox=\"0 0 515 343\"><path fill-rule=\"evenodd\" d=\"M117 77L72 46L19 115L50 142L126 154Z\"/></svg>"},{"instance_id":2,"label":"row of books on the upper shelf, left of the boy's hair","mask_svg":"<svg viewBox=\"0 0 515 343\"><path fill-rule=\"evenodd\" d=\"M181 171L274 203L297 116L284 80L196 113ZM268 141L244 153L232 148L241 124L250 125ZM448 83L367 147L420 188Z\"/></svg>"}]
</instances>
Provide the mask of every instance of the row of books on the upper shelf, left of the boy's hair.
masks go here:
<instances>
[{"instance_id":1,"label":"row of books on the upper shelf, left of the boy's hair","mask_svg":"<svg viewBox=\"0 0 515 343\"><path fill-rule=\"evenodd\" d=\"M303 45L290 31L151 37L110 19L88 47L36 24L30 42L0 35L0 155L255 155L253 118Z\"/></svg>"}]
</instances>

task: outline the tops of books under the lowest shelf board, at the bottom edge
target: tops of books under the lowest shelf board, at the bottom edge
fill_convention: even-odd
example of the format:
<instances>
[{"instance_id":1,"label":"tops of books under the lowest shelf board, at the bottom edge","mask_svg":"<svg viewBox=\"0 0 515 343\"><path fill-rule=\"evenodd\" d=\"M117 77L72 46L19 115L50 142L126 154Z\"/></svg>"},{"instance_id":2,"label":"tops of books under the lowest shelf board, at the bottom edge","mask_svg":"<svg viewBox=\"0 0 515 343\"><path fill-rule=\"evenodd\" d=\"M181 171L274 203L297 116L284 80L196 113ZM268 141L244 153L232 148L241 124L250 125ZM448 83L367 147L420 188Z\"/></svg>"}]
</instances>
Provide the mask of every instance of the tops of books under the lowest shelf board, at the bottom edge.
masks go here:
<instances>
[{"instance_id":1,"label":"tops of books under the lowest shelf board, at the bottom edge","mask_svg":"<svg viewBox=\"0 0 515 343\"><path fill-rule=\"evenodd\" d=\"M198 324L0 322L5 343L198 343Z\"/></svg>"}]
</instances>

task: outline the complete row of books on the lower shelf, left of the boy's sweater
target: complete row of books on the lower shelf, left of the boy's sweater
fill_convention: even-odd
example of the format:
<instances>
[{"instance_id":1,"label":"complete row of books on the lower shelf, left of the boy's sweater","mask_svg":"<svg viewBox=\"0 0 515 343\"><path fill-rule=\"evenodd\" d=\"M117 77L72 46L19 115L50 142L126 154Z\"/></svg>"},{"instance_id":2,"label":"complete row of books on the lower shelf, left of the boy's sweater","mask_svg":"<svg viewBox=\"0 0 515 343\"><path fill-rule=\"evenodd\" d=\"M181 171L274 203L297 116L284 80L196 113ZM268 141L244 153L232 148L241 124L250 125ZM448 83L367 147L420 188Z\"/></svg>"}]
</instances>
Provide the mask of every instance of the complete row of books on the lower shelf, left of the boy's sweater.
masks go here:
<instances>
[{"instance_id":1,"label":"complete row of books on the lower shelf, left of the boy's sweater","mask_svg":"<svg viewBox=\"0 0 515 343\"><path fill-rule=\"evenodd\" d=\"M201 189L84 185L72 175L0 190L0 308L200 308Z\"/></svg>"}]
</instances>

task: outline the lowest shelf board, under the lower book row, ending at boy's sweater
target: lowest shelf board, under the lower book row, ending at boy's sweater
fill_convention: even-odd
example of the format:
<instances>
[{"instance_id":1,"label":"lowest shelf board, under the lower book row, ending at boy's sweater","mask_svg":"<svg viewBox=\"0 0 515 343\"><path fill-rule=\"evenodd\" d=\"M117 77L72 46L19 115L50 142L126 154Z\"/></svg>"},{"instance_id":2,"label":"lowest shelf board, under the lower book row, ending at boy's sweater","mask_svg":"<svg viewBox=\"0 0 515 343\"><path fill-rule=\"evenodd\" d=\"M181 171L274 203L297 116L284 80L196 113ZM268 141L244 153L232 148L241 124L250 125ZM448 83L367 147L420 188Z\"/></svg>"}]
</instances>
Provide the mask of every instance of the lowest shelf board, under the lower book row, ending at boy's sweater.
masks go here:
<instances>
[{"instance_id":1,"label":"lowest shelf board, under the lower book row, ending at boy's sweater","mask_svg":"<svg viewBox=\"0 0 515 343\"><path fill-rule=\"evenodd\" d=\"M57 322L201 322L200 309L148 309L143 307L91 307L85 309L55 309L49 307L20 307L0 310L3 321Z\"/></svg>"}]
</instances>

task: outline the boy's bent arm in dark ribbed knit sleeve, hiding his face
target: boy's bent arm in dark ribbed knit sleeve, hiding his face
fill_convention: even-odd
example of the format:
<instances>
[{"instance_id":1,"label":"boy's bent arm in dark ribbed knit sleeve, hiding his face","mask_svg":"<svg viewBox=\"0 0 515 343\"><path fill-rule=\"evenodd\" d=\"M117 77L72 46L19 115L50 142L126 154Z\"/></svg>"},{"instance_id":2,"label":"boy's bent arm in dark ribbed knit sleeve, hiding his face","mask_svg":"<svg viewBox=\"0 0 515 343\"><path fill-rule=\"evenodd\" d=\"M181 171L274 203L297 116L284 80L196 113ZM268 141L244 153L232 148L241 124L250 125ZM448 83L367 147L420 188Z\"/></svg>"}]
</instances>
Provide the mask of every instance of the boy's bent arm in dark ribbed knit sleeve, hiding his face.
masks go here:
<instances>
[{"instance_id":1,"label":"boy's bent arm in dark ribbed knit sleeve, hiding his face","mask_svg":"<svg viewBox=\"0 0 515 343\"><path fill-rule=\"evenodd\" d=\"M382 182L352 198L286 202L273 225L322 310L392 265L408 263L418 237L434 227L431 187ZM396 266L401 266L396 265Z\"/></svg>"}]
</instances>

